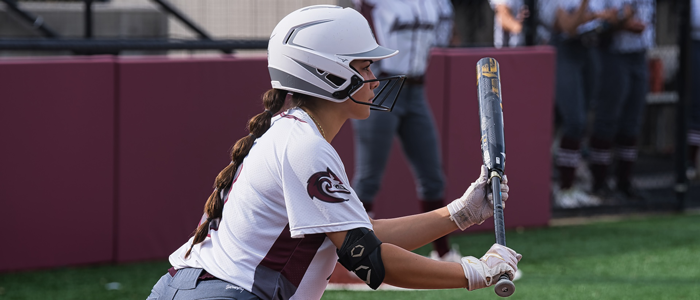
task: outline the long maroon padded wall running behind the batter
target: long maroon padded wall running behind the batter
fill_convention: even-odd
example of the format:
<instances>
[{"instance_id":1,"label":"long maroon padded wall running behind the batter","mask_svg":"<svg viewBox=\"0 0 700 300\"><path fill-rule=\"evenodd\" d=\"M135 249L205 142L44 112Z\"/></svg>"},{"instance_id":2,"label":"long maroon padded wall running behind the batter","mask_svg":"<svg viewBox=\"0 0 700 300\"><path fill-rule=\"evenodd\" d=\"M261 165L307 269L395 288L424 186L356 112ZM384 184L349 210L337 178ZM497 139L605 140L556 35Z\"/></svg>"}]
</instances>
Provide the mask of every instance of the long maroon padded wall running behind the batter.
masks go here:
<instances>
[{"instance_id":1,"label":"long maroon padded wall running behind the batter","mask_svg":"<svg viewBox=\"0 0 700 300\"><path fill-rule=\"evenodd\" d=\"M551 48L433 52L426 90L447 200L478 176L474 83L483 56L501 65L512 189L506 225L546 225ZM0 85L0 180L7 183L0 228L27 236L0 248L0 271L7 271L167 257L195 229L228 150L262 111L269 76L264 58L74 58L2 61ZM351 127L333 145L352 177ZM419 212L398 143L392 151L377 217Z\"/></svg>"}]
</instances>

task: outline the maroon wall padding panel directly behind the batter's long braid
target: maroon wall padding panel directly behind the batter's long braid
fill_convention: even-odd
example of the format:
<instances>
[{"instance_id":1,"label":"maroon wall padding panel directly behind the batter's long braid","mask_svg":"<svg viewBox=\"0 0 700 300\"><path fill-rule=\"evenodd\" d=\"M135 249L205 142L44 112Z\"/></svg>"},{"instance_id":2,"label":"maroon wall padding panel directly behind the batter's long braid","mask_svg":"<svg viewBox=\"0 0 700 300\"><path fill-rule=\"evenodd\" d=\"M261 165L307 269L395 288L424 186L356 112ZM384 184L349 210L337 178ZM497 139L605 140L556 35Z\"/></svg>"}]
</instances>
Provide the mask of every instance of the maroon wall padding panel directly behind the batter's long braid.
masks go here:
<instances>
[{"instance_id":1,"label":"maroon wall padding panel directly behind the batter's long braid","mask_svg":"<svg viewBox=\"0 0 700 300\"><path fill-rule=\"evenodd\" d=\"M118 67L116 257L162 259L196 228L229 149L263 111L267 61L121 59Z\"/></svg>"}]
</instances>

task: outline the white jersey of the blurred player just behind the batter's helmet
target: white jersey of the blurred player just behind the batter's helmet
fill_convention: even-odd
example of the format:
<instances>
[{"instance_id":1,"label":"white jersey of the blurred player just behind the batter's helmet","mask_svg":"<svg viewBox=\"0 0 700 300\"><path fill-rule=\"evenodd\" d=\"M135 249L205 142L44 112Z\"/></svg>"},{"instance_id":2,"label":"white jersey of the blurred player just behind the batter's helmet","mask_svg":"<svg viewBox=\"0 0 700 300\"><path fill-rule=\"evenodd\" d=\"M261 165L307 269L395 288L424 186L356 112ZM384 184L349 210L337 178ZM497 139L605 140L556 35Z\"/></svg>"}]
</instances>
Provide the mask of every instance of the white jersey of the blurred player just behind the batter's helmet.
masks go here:
<instances>
[{"instance_id":1,"label":"white jersey of the blurred player just behind the batter's helmet","mask_svg":"<svg viewBox=\"0 0 700 300\"><path fill-rule=\"evenodd\" d=\"M449 0L354 0L367 18L377 42L399 50L377 62L380 72L423 76L432 47L446 47L452 37ZM374 69L374 68L373 68Z\"/></svg>"}]
</instances>

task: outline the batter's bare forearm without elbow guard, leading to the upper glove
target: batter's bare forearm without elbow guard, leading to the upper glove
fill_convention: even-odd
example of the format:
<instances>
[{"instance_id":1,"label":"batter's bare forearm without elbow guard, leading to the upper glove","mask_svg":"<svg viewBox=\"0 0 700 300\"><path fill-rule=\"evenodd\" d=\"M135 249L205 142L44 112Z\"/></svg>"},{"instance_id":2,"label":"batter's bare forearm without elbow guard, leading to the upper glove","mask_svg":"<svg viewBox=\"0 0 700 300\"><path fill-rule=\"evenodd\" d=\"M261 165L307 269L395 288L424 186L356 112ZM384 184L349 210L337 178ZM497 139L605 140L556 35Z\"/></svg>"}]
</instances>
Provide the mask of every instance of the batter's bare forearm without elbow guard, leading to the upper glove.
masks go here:
<instances>
[{"instance_id":1,"label":"batter's bare forearm without elbow guard, leading to the upper glove","mask_svg":"<svg viewBox=\"0 0 700 300\"><path fill-rule=\"evenodd\" d=\"M379 240L406 250L419 248L457 229L446 207L406 217L373 220L372 226Z\"/></svg>"}]
</instances>

